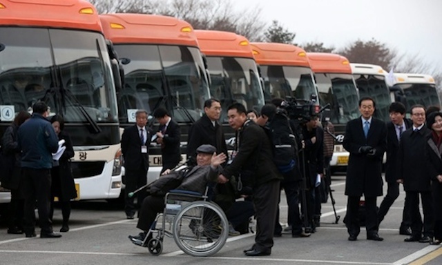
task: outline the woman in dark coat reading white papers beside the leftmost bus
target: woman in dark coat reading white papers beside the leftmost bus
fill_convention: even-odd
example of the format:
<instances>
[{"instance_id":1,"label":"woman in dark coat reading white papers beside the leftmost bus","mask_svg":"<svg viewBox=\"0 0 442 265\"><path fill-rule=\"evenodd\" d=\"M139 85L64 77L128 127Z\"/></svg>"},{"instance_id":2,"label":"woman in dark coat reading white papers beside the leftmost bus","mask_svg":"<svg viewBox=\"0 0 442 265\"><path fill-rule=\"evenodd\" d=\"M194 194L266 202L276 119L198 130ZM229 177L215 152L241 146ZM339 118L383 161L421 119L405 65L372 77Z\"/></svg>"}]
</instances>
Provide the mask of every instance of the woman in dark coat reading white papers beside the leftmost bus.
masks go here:
<instances>
[{"instance_id":1,"label":"woman in dark coat reading white papers beside the leftmost bus","mask_svg":"<svg viewBox=\"0 0 442 265\"><path fill-rule=\"evenodd\" d=\"M50 123L55 129L59 140L64 140L63 144L66 147L63 155L58 161L54 160L51 170L52 176L52 201L50 206L50 217L54 213L54 197L58 197L61 206L61 215L63 216L63 225L60 232L68 232L68 221L70 217L70 199L77 197L75 190L74 177L72 175L72 168L70 167L70 158L74 157L74 148L68 133L64 129L64 119L59 115L52 116Z\"/></svg>"}]
</instances>

